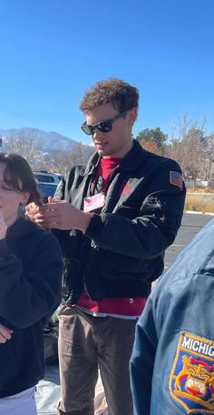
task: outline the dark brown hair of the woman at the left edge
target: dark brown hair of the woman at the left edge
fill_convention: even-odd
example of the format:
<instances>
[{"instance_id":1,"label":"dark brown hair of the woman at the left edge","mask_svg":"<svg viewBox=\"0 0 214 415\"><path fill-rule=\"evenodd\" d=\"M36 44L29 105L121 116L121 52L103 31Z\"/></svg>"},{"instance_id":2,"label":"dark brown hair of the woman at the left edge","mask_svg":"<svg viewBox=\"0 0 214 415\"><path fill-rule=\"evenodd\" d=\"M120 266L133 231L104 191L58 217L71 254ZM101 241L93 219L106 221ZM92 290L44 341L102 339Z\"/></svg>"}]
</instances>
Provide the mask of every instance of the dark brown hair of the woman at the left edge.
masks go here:
<instances>
[{"instance_id":1,"label":"dark brown hair of the woman at the left edge","mask_svg":"<svg viewBox=\"0 0 214 415\"><path fill-rule=\"evenodd\" d=\"M0 153L0 163L5 164L4 181L17 192L29 192L27 203L42 204L31 167L24 157L15 153Z\"/></svg>"}]
</instances>

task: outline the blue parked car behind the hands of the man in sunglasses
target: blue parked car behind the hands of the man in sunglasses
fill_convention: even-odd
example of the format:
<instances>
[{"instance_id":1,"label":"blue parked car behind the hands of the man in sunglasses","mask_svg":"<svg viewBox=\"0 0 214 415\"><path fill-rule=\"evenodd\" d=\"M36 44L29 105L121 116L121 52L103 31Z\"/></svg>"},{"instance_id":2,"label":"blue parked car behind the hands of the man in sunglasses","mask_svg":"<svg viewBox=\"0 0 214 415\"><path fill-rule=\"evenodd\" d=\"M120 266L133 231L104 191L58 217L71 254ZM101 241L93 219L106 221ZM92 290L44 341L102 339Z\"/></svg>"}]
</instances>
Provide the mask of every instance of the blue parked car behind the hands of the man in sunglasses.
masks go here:
<instances>
[{"instance_id":1,"label":"blue parked car behind the hands of the man in sunglasses","mask_svg":"<svg viewBox=\"0 0 214 415\"><path fill-rule=\"evenodd\" d=\"M54 195L56 187L60 183L60 178L55 173L48 173L47 171L33 171L38 190L44 198L44 203L47 202L48 197Z\"/></svg>"}]
</instances>

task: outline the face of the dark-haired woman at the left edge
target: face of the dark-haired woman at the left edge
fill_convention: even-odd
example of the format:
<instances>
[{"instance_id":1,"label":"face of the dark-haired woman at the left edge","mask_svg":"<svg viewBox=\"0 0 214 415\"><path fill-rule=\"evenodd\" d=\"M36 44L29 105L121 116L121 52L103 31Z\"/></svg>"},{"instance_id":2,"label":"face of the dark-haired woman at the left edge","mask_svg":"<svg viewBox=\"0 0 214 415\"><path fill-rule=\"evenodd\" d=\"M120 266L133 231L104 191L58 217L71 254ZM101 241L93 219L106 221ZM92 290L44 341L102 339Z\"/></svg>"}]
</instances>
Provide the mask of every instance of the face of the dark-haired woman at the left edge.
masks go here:
<instances>
[{"instance_id":1,"label":"face of the dark-haired woman at the left edge","mask_svg":"<svg viewBox=\"0 0 214 415\"><path fill-rule=\"evenodd\" d=\"M0 162L0 211L6 225L11 226L18 217L18 208L24 205L29 197L27 192L18 192L4 181L5 163Z\"/></svg>"}]
</instances>

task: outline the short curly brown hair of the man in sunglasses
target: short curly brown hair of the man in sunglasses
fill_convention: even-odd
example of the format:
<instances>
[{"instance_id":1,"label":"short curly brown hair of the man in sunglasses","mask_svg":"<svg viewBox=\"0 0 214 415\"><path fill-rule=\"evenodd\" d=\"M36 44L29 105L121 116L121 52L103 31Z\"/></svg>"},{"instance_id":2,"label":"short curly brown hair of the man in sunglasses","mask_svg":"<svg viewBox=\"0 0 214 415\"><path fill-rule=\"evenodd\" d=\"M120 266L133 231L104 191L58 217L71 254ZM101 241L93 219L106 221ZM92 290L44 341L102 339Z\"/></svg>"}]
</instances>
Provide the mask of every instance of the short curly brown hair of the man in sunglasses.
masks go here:
<instances>
[{"instance_id":1,"label":"short curly brown hair of the man in sunglasses","mask_svg":"<svg viewBox=\"0 0 214 415\"><path fill-rule=\"evenodd\" d=\"M80 103L83 113L91 111L95 106L111 103L119 112L138 107L139 91L135 86L119 78L99 81L86 90Z\"/></svg>"}]
</instances>

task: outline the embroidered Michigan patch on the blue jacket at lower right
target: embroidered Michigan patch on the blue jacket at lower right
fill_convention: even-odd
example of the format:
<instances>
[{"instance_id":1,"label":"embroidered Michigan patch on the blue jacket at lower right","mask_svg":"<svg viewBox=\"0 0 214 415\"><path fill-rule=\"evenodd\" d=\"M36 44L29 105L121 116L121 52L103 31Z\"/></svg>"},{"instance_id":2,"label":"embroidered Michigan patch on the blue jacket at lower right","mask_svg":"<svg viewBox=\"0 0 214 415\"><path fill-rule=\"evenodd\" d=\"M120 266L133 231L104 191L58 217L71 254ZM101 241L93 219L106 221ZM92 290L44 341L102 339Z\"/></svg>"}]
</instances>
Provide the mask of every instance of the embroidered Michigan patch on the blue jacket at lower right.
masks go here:
<instances>
[{"instance_id":1,"label":"embroidered Michigan patch on the blue jacket at lower right","mask_svg":"<svg viewBox=\"0 0 214 415\"><path fill-rule=\"evenodd\" d=\"M169 388L186 413L214 413L214 341L180 333Z\"/></svg>"}]
</instances>

